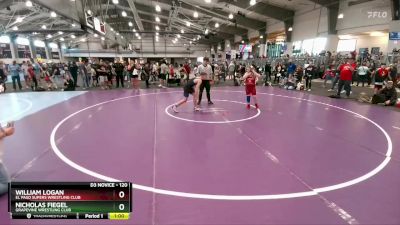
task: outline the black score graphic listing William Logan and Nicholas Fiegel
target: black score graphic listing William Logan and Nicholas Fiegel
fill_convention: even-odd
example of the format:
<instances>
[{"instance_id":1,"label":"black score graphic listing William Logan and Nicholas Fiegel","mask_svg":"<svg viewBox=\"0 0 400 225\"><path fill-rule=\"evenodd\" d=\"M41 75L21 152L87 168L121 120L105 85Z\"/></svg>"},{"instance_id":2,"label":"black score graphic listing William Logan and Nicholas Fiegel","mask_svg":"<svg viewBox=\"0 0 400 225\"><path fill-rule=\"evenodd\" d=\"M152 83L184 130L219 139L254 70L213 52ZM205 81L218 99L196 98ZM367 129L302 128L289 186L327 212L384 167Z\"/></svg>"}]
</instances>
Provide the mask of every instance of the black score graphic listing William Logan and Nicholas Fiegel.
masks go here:
<instances>
[{"instance_id":1,"label":"black score graphic listing William Logan and Nicholas Fiegel","mask_svg":"<svg viewBox=\"0 0 400 225\"><path fill-rule=\"evenodd\" d=\"M127 220L129 182L12 182L8 211L13 219Z\"/></svg>"}]
</instances>

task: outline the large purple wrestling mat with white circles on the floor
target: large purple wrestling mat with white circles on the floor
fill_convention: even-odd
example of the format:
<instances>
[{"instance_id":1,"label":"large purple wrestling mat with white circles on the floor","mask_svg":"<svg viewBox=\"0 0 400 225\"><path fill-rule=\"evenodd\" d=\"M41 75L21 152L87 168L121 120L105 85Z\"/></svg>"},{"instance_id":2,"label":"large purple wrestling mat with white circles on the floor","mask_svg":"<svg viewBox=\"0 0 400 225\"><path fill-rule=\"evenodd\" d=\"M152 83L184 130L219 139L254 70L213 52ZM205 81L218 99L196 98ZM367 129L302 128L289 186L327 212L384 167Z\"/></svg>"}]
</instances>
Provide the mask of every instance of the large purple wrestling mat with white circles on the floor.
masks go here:
<instances>
[{"instance_id":1,"label":"large purple wrestling mat with white circles on the floor","mask_svg":"<svg viewBox=\"0 0 400 225\"><path fill-rule=\"evenodd\" d=\"M129 221L32 224L400 224L400 115L259 87L92 91L34 113L5 141L15 181L123 180ZM0 224L11 220L0 198Z\"/></svg>"}]
</instances>

